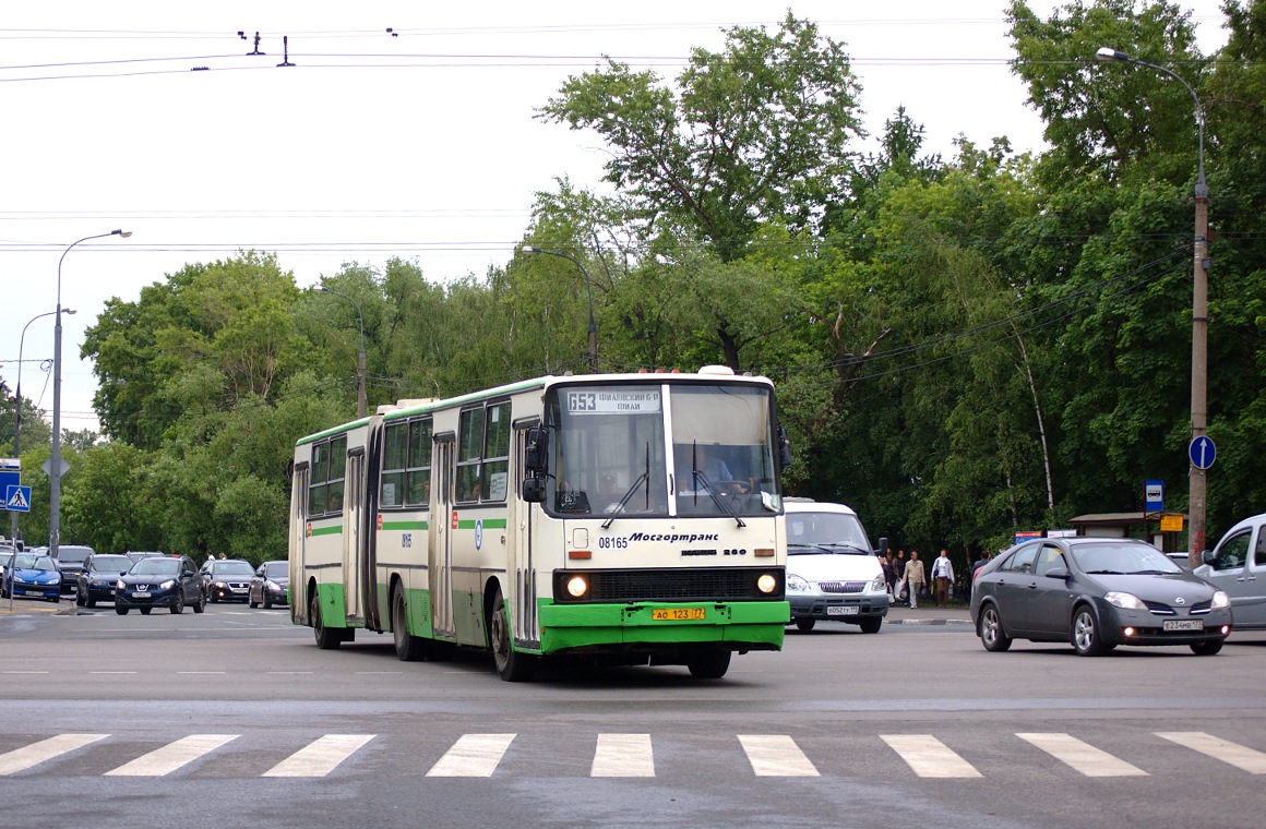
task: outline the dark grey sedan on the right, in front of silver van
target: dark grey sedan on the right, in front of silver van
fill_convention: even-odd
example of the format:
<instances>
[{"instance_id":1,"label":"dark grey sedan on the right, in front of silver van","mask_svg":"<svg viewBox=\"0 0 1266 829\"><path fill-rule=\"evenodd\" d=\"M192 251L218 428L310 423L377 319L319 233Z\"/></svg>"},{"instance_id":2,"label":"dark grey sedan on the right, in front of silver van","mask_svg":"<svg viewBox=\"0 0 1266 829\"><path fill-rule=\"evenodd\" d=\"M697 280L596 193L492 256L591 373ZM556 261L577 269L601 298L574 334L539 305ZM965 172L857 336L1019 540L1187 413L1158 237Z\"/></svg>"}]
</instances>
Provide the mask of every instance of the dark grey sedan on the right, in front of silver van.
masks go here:
<instances>
[{"instance_id":1,"label":"dark grey sedan on the right, in front of silver van","mask_svg":"<svg viewBox=\"0 0 1266 829\"><path fill-rule=\"evenodd\" d=\"M1231 599L1151 544L1129 538L1038 538L980 570L971 619L986 651L1013 639L1067 642L1081 656L1118 644L1222 649Z\"/></svg>"}]
</instances>

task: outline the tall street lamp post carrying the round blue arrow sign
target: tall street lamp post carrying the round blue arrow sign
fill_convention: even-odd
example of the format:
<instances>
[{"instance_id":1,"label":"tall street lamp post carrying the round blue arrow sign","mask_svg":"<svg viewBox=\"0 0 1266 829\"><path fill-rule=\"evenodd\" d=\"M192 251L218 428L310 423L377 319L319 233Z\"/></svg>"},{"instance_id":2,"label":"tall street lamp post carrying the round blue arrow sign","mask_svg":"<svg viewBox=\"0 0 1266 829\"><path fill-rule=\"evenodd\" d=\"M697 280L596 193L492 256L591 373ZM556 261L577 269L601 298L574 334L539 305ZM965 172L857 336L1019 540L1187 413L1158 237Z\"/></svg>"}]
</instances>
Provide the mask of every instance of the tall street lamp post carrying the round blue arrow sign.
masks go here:
<instances>
[{"instance_id":1,"label":"tall street lamp post carrying the round blue arrow sign","mask_svg":"<svg viewBox=\"0 0 1266 829\"><path fill-rule=\"evenodd\" d=\"M1206 386L1209 382L1209 187L1204 182L1204 109L1191 85L1181 77L1156 63L1139 61L1124 52L1103 47L1095 57L1105 63L1133 63L1162 72L1186 87L1195 101L1195 123L1199 140L1195 176L1195 267L1191 286L1191 440L1204 437L1208 427L1209 409ZM1205 515L1205 471L1194 462L1188 471L1188 561L1191 567L1200 564L1204 551Z\"/></svg>"}]
</instances>

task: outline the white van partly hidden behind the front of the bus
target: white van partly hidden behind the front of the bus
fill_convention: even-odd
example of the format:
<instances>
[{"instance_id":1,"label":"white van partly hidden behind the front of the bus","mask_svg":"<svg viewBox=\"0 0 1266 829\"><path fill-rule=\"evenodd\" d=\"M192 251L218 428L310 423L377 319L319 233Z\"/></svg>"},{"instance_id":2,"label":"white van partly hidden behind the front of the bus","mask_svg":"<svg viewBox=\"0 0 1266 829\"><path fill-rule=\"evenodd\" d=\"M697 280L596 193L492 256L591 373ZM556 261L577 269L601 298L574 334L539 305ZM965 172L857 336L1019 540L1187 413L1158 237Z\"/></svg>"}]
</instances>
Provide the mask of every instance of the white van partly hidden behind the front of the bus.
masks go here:
<instances>
[{"instance_id":1,"label":"white van partly hidden behind the front of the bus","mask_svg":"<svg viewBox=\"0 0 1266 829\"><path fill-rule=\"evenodd\" d=\"M782 506L791 624L812 630L823 619L879 633L890 596L857 513L803 497L785 497Z\"/></svg>"}]
</instances>

